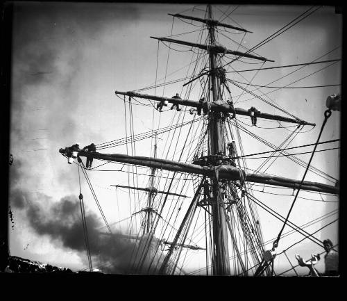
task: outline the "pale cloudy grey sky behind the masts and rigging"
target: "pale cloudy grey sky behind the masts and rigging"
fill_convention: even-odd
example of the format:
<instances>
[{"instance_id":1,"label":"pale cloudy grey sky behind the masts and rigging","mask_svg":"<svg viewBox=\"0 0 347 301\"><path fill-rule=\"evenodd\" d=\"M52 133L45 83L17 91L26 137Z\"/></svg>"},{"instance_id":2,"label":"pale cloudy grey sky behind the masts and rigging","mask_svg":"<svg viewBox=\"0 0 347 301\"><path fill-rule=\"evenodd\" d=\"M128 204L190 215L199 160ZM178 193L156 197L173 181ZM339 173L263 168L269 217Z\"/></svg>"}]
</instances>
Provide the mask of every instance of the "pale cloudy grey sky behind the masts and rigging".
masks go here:
<instances>
[{"instance_id":1,"label":"pale cloudy grey sky behind the masts and rigging","mask_svg":"<svg viewBox=\"0 0 347 301\"><path fill-rule=\"evenodd\" d=\"M193 10L194 8L194 10ZM244 28L253 31L245 37L243 34L228 34L233 40L242 42L244 47L251 48L264 40L282 26L303 13L308 6L239 6L234 13L226 17L236 6L217 6L214 8L217 19L223 22L241 24ZM12 102L11 102L11 128L10 153L15 160L10 167L10 206L14 215L14 228L10 228L10 253L26 259L65 266L74 270L85 268L83 234L80 231L81 221L78 205L78 172L76 165L68 165L67 160L59 153L60 147L67 147L76 142L81 146L90 143L103 143L126 136L124 118L124 101L115 96L115 90L137 90L155 83L155 74L160 82L167 74L167 81L185 76L187 69L176 72L180 67L189 64L192 53L187 47L171 45L169 54L164 44L149 38L169 36L172 34L194 31L194 24L189 25L178 19L174 24L172 17L167 13L184 13L203 17L204 6L187 6L171 4L121 4L121 3L20 3L15 4L13 16L12 40ZM221 12L228 12L222 15ZM196 24L195 24L196 25ZM196 33L177 37L180 40L196 40ZM220 35L222 44L228 49L237 46L231 40ZM323 7L316 13L307 17L303 22L280 35L278 38L256 50L260 56L275 60L275 63L266 63L264 67L307 63L312 60L330 60L341 58L341 15L336 15L333 7ZM339 48L337 48L339 47ZM180 50L174 51L173 49ZM335 49L334 51L332 51ZM189 49L188 49L189 50ZM240 48L239 51L243 49ZM331 51L329 54L328 52ZM323 56L324 54L327 54ZM322 56L322 58L320 58ZM157 69L158 59L158 69ZM169 62L167 67L167 62ZM254 63L244 59L244 62ZM262 64L249 65L248 63L235 63L235 70L246 70L260 67ZM285 86L294 80L307 76L327 64L311 65L285 77L270 86ZM227 71L232 71L232 67ZM292 86L319 86L339 84L341 82L341 63L317 72L307 79L298 81ZM288 74L292 68L256 72L244 72L242 76L230 73L228 77L235 81L245 82L253 79L253 84L264 85ZM192 71L192 70L191 70ZM176 72L172 75L172 72ZM246 78L246 79L245 79ZM283 115L272 106L264 104L259 99L251 99L249 95L242 95L241 90L230 85L235 106L250 108L255 106L262 112ZM249 87L248 87L249 88ZM254 87L253 87L254 88ZM252 90L253 90L252 88ZM197 90L193 90L189 99L197 100ZM262 89L269 92L269 89ZM165 95L171 97L176 92L185 94L182 83L167 86L165 90L146 90L144 93ZM305 127L303 132L296 136L291 146L314 143L316 141L323 112L325 99L328 95L340 92L340 87L282 89L269 94L272 100L285 108L291 114L315 122L317 126ZM257 91L260 95L260 91ZM144 101L145 102L145 101ZM190 116L190 117L189 117ZM326 125L321 140L339 138L339 112L333 112ZM185 121L192 116L185 115ZM135 133L142 133L155 128L165 127L171 122L182 122L182 118L174 111L159 114L151 106L133 106L133 127ZM251 124L247 117L240 117L242 122ZM276 127L273 122L258 121L259 129L251 129L254 133L278 145L295 128L265 129ZM289 131L290 130L290 131ZM185 130L180 137L184 137ZM169 152L164 144L168 136L161 136L158 140L158 158L164 158ZM265 145L243 137L245 154L268 151ZM179 138L176 151L182 147L183 139ZM153 156L153 141L143 140L136 145L136 154ZM336 144L335 144L336 145ZM328 148L325 146L319 149ZM311 149L305 149L310 151ZM125 154L125 146L105 150L106 153ZM130 151L129 151L130 152ZM170 153L171 154L171 153ZM176 152L172 158L178 160ZM308 161L310 154L301 155ZM183 159L180 161L184 161ZM262 161L249 160L249 168L257 168ZM102 162L94 161L94 166ZM314 156L312 165L327 172L332 177L339 177L338 149L329 152L320 152ZM108 166L108 165L106 165ZM121 165L117 165L120 168ZM139 168L137 172L147 172ZM282 177L301 179L304 169L294 165L286 158L280 158L267 172ZM125 172L89 172L90 179L103 207L109 223L117 222L129 216L128 204L124 204L127 195L122 191L112 189L110 185L128 185ZM307 174L309 181L330 182ZM139 186L146 185L148 177L140 177ZM188 188L187 188L188 189ZM256 188L260 189L261 188ZM82 182L82 191L85 195L87 210L87 223L91 229L103 227L100 213L97 211L87 184ZM187 190L189 191L189 189ZM292 198L274 197L271 195L256 194L266 200L266 204L285 215L289 209ZM312 194L302 193L303 197L312 197ZM135 197L135 196L134 196ZM317 200L319 195L313 195ZM138 197L145 200L144 195ZM303 225L314 218L338 208L337 197L323 198L333 202L312 202L298 200L291 221ZM135 201L135 199L134 199ZM261 210L261 209L259 209ZM271 239L278 234L280 224L274 223L271 215L260 211L264 240ZM336 215L335 215L336 218ZM333 218L331 219L333 220ZM311 227L314 231L328 223ZM119 224L119 230L121 229ZM287 229L287 228L286 228ZM325 228L317 237L330 238L337 242L337 223ZM74 231L72 231L74 230ZM75 231L76 230L76 231ZM80 231L80 232L79 232ZM92 230L91 230L92 231ZM307 230L308 231L308 230ZM92 237L93 234L90 234ZM290 245L301 236L292 236L286 241ZM96 238L93 246L99 246L99 257L96 263L115 260L113 271L122 272L121 261L126 255L127 245L119 243L115 249ZM101 246L101 247L100 247ZM285 245L280 245L284 248ZM317 246L304 242L297 250L292 250L291 259L295 262L294 254L299 252L303 257L309 257L317 250ZM119 251L121 250L121 251ZM198 255L196 255L198 258ZM288 266L287 259L278 259L278 265ZM322 261L319 267L323 270ZM97 264L96 264L97 266ZM303 269L303 272L306 272Z\"/></svg>"}]
</instances>

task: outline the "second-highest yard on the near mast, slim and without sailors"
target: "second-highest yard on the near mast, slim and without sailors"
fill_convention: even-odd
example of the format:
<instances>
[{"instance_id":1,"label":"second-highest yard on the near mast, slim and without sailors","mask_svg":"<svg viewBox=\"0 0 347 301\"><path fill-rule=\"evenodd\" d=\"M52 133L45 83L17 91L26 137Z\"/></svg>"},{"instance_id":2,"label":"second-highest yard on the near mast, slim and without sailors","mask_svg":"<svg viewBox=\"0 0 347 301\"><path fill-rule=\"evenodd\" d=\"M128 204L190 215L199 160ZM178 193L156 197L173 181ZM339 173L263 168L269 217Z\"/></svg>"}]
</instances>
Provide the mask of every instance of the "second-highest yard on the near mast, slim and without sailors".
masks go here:
<instances>
[{"instance_id":1,"label":"second-highest yard on the near mast, slim and without sailors","mask_svg":"<svg viewBox=\"0 0 347 301\"><path fill-rule=\"evenodd\" d=\"M217 45L217 44L205 45L205 44L197 44L197 43L175 40L170 38L156 38L156 37L149 37L149 38L164 41L164 42L182 44L182 45L186 45L190 47L196 47L203 50L214 52L216 54L235 54L236 56L244 56L245 58L254 58L255 60L263 60L264 62L274 62L274 60L269 60L267 58L263 58L262 56L253 56L253 54L247 54L241 51L226 49L225 47L221 45Z\"/></svg>"}]
</instances>

